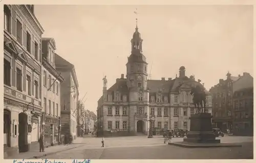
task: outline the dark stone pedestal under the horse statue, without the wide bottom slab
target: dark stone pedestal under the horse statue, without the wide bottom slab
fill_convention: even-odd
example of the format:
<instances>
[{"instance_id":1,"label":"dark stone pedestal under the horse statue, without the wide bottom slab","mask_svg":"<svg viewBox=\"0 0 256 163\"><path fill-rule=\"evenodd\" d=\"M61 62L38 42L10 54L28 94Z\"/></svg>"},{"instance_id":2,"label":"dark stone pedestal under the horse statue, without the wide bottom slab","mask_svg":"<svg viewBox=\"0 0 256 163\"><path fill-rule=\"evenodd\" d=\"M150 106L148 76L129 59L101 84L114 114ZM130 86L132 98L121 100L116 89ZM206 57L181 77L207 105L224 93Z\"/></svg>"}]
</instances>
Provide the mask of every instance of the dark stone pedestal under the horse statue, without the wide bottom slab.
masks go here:
<instances>
[{"instance_id":1,"label":"dark stone pedestal under the horse statue, without the wide bottom slab","mask_svg":"<svg viewBox=\"0 0 256 163\"><path fill-rule=\"evenodd\" d=\"M210 113L194 114L190 117L190 131L187 133L187 138L184 142L190 143L220 143L216 139L215 133L211 129Z\"/></svg>"}]
</instances>

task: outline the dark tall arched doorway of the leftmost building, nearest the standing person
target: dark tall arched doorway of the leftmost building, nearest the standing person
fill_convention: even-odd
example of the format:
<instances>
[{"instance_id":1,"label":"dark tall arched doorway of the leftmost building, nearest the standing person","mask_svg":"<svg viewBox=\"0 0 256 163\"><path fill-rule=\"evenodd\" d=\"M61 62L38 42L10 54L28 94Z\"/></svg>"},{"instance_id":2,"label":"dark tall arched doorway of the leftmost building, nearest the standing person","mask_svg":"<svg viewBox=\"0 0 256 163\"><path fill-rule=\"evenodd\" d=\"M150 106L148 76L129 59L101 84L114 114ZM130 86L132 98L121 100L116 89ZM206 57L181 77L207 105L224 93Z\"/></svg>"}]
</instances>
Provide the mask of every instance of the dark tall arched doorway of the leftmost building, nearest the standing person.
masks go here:
<instances>
[{"instance_id":1,"label":"dark tall arched doorway of the leftmost building, nearest the standing person","mask_svg":"<svg viewBox=\"0 0 256 163\"><path fill-rule=\"evenodd\" d=\"M28 151L28 115L26 113L18 114L18 150L19 152Z\"/></svg>"}]
</instances>

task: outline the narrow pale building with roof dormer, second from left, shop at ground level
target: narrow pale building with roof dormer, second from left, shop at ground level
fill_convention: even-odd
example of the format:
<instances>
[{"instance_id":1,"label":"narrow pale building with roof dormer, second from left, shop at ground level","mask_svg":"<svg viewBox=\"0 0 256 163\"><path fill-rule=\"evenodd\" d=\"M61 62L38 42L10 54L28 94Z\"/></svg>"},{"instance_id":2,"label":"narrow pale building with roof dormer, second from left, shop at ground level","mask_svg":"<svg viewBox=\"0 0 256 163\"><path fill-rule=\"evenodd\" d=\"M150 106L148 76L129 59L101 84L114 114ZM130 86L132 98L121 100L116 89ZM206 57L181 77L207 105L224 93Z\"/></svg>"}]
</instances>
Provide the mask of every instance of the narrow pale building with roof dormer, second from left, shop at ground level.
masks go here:
<instances>
[{"instance_id":1,"label":"narrow pale building with roof dormer, second from left, shop at ground level","mask_svg":"<svg viewBox=\"0 0 256 163\"><path fill-rule=\"evenodd\" d=\"M64 79L55 69L55 50L53 38L42 38L42 128L45 146L53 146L60 140L60 84Z\"/></svg>"}]
</instances>

